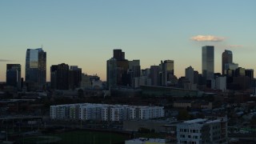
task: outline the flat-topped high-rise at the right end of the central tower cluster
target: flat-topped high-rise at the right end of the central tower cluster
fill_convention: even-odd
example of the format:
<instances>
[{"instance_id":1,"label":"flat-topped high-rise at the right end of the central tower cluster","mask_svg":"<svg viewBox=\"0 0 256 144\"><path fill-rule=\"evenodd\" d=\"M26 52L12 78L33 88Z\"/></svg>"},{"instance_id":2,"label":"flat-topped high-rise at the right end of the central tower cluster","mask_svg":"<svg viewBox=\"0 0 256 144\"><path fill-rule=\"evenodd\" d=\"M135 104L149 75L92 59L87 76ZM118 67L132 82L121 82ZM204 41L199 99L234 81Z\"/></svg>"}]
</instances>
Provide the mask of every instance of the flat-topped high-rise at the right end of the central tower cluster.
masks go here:
<instances>
[{"instance_id":1,"label":"flat-topped high-rise at the right end of the central tower cluster","mask_svg":"<svg viewBox=\"0 0 256 144\"><path fill-rule=\"evenodd\" d=\"M174 78L174 61L166 60L164 62L161 61L161 84L162 86L168 86L172 82L172 78Z\"/></svg>"}]
</instances>

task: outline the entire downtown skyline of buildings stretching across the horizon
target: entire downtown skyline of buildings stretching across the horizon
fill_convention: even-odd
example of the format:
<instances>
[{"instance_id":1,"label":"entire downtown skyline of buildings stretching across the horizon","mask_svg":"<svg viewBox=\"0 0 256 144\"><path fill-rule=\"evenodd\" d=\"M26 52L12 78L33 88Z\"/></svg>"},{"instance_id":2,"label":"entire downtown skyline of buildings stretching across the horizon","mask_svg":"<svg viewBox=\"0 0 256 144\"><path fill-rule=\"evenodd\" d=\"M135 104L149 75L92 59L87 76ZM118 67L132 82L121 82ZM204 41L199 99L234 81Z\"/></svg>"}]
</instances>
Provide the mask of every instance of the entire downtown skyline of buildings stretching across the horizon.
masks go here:
<instances>
[{"instance_id":1,"label":"entire downtown skyline of buildings stretching across the horizon","mask_svg":"<svg viewBox=\"0 0 256 144\"><path fill-rule=\"evenodd\" d=\"M26 50L26 74L21 78L20 64L6 65L6 85L17 90L74 90L104 88L97 75L83 74L78 66L66 63L50 66L50 82L46 82L46 51L42 48ZM106 62L106 89L117 87L167 86L189 90L248 90L255 86L254 70L233 62L230 50L222 53L222 73L214 72L214 46L202 46L202 73L192 66L185 76L174 74L174 60L163 60L159 65L141 69L140 60L129 61L125 52L113 50Z\"/></svg>"}]
</instances>

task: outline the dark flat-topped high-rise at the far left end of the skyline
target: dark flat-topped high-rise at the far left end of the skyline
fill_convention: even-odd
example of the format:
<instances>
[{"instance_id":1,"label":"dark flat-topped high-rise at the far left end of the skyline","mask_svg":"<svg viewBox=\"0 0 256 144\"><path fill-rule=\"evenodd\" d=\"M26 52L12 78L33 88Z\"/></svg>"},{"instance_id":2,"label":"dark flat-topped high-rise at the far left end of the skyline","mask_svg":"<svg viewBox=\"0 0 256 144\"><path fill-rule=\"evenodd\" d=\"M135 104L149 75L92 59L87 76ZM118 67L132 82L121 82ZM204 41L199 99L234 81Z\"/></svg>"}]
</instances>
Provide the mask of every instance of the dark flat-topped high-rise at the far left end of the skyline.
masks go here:
<instances>
[{"instance_id":1,"label":"dark flat-topped high-rise at the far left end of the skyline","mask_svg":"<svg viewBox=\"0 0 256 144\"><path fill-rule=\"evenodd\" d=\"M6 65L6 85L17 87L21 89L21 65L20 64L7 64Z\"/></svg>"}]
</instances>

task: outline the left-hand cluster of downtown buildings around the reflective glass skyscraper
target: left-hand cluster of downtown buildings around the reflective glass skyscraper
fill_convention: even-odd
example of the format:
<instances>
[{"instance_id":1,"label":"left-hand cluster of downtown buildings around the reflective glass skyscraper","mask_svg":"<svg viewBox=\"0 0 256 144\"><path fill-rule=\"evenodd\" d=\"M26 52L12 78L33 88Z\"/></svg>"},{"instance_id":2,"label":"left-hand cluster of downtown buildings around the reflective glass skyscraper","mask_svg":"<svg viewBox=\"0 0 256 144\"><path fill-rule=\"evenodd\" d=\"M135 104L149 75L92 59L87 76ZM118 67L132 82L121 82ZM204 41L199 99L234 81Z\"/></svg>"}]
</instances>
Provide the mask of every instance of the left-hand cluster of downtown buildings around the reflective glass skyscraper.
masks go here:
<instances>
[{"instance_id":1,"label":"left-hand cluster of downtown buildings around the reflective glass skyscraper","mask_svg":"<svg viewBox=\"0 0 256 144\"><path fill-rule=\"evenodd\" d=\"M16 90L35 91L102 88L97 75L83 74L78 66L61 63L50 66L50 82L46 82L46 51L42 48L26 50L25 79L21 64L6 64L6 86Z\"/></svg>"}]
</instances>

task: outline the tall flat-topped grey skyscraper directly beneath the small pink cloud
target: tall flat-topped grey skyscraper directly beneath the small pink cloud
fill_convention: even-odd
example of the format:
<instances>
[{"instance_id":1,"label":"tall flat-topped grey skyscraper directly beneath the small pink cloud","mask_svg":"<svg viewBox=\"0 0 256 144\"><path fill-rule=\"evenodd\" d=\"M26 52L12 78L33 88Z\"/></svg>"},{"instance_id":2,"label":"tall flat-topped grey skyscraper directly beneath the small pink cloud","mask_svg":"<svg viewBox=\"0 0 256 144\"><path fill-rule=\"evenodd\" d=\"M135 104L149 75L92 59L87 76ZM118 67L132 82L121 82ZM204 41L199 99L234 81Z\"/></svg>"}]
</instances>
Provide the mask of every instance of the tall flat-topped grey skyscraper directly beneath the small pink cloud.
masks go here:
<instances>
[{"instance_id":1,"label":"tall flat-topped grey skyscraper directly beneath the small pink cloud","mask_svg":"<svg viewBox=\"0 0 256 144\"><path fill-rule=\"evenodd\" d=\"M214 78L214 46L202 46L202 76Z\"/></svg>"}]
</instances>

